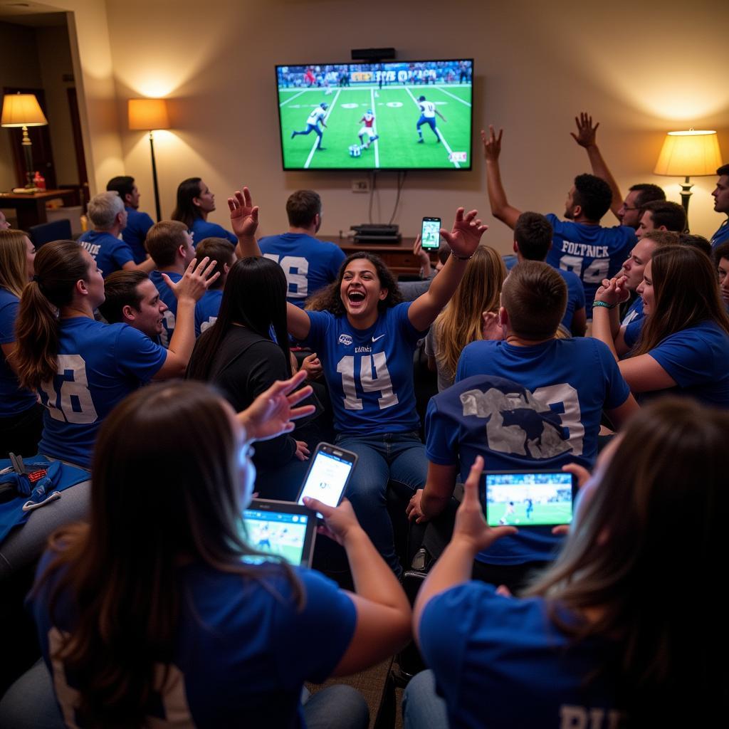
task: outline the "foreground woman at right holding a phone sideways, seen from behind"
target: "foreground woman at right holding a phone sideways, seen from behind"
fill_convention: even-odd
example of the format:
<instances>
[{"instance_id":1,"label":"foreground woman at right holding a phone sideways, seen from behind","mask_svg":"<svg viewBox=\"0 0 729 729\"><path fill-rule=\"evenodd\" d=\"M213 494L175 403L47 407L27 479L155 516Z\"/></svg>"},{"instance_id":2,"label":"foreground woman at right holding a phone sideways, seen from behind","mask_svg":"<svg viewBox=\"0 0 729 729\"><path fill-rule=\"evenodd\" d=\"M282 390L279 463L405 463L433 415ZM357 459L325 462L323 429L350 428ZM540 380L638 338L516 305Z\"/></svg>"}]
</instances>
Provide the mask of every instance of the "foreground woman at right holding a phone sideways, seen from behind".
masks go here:
<instances>
[{"instance_id":1,"label":"foreground woman at right holding a phone sideways, seen from behind","mask_svg":"<svg viewBox=\"0 0 729 729\"><path fill-rule=\"evenodd\" d=\"M601 452L564 549L523 598L469 582L474 555L514 531L486 525L477 459L416 599L432 671L405 690L406 729L714 725L725 607L676 578L712 585L724 569L728 432L727 413L684 399L638 413ZM690 545L677 538L687 519Z\"/></svg>"}]
</instances>

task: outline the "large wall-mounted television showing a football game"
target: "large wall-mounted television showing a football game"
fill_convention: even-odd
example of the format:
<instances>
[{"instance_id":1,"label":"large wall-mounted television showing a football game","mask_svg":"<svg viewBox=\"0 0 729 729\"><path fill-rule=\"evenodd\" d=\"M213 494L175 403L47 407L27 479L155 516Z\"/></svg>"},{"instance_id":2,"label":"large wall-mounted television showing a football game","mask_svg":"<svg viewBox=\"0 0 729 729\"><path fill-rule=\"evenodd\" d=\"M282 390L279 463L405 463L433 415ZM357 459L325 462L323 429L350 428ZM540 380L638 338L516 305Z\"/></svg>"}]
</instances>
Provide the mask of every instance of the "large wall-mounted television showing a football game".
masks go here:
<instances>
[{"instance_id":1,"label":"large wall-mounted television showing a football game","mask_svg":"<svg viewBox=\"0 0 729 729\"><path fill-rule=\"evenodd\" d=\"M469 170L473 61L276 66L284 170Z\"/></svg>"}]
</instances>

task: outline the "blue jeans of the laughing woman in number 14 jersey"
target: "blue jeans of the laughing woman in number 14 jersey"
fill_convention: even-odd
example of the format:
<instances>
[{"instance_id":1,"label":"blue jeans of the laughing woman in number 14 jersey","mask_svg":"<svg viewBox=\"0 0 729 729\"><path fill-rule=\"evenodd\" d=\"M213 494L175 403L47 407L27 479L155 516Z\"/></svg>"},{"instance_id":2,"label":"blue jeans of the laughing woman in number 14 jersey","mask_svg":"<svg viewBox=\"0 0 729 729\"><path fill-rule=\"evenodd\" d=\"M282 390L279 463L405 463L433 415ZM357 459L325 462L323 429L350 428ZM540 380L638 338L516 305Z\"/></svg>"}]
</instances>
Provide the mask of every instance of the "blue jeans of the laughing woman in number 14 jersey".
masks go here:
<instances>
[{"instance_id":1,"label":"blue jeans of the laughing woman in number 14 jersey","mask_svg":"<svg viewBox=\"0 0 729 729\"><path fill-rule=\"evenodd\" d=\"M395 553L392 523L387 512L386 491L390 482L408 499L425 486L428 459L416 432L377 435L338 435L335 443L359 456L345 491L362 529L389 564L402 572ZM403 507L404 508L404 507Z\"/></svg>"}]
</instances>

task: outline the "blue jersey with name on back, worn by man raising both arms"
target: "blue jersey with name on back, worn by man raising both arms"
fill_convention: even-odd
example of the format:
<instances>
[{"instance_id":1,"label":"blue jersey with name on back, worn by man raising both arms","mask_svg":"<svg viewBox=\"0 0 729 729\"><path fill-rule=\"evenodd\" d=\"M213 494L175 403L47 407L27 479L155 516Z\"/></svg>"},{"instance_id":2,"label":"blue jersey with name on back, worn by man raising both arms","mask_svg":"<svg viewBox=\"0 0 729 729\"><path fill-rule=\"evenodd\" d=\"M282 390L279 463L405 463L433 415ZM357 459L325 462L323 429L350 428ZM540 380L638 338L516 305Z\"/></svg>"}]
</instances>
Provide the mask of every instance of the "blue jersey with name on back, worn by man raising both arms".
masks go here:
<instances>
[{"instance_id":1,"label":"blue jersey with name on back, worn by man raising both arms","mask_svg":"<svg viewBox=\"0 0 729 729\"><path fill-rule=\"evenodd\" d=\"M627 225L602 227L545 216L554 234L547 263L554 268L573 271L585 288L585 300L592 303L603 278L611 278L622 268L636 243L636 232ZM588 319L592 310L588 312Z\"/></svg>"}]
</instances>

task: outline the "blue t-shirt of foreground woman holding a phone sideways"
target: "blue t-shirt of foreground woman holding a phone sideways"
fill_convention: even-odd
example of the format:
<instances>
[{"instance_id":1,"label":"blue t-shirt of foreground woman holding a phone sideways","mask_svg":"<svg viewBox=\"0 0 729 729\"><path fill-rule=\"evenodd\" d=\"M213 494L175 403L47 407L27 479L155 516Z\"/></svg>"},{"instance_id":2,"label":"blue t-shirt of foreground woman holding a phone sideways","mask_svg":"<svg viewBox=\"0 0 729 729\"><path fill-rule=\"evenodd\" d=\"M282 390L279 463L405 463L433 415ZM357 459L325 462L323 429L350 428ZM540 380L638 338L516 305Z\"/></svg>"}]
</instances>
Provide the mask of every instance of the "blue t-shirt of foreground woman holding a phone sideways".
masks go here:
<instances>
[{"instance_id":1,"label":"blue t-shirt of foreground woman holding a phone sideways","mask_svg":"<svg viewBox=\"0 0 729 729\"><path fill-rule=\"evenodd\" d=\"M578 620L564 608L559 617ZM623 726L612 680L620 647L576 642L552 623L542 598L502 597L466 582L429 601L420 639L451 729ZM589 680L611 664L614 671Z\"/></svg>"}]
</instances>

